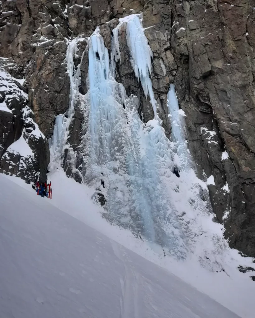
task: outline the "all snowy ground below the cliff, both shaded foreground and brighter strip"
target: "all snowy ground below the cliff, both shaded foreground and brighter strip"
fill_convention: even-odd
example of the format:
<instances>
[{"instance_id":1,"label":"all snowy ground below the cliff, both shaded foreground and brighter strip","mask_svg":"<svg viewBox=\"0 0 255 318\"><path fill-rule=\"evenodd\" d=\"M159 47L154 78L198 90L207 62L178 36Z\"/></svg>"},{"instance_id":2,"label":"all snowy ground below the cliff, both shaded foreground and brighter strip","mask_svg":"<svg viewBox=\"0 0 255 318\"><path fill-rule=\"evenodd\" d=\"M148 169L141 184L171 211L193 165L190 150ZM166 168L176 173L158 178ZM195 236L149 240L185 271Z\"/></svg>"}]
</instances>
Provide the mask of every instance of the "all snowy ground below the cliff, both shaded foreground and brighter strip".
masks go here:
<instances>
[{"instance_id":1,"label":"all snowy ground below the cliff, both shaded foreground and brighter strip","mask_svg":"<svg viewBox=\"0 0 255 318\"><path fill-rule=\"evenodd\" d=\"M23 317L23 311L26 318L28 312L31 317L79 317L80 312L86 317L236 317L170 272L240 317L254 317L255 283L237 270L235 250L226 257L225 273L202 268L199 255L186 261L164 257L159 247L104 220L91 200L93 190L61 170L49 180L52 200L36 196L19 178L0 175L0 257L6 260L0 265L5 304L0 308L6 317L10 308L14 317Z\"/></svg>"}]
</instances>

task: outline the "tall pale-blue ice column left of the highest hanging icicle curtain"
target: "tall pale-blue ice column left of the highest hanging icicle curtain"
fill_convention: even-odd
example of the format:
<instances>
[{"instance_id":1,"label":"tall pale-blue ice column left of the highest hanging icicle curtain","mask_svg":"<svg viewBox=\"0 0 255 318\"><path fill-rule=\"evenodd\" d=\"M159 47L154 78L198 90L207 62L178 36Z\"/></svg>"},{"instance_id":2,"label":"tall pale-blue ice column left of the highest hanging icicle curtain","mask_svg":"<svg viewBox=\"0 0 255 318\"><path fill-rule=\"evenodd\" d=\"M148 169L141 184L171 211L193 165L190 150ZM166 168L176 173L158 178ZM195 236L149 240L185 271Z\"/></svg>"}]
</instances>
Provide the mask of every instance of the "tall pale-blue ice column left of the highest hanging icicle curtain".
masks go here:
<instances>
[{"instance_id":1,"label":"tall pale-blue ice column left of the highest hanging icicle curtain","mask_svg":"<svg viewBox=\"0 0 255 318\"><path fill-rule=\"evenodd\" d=\"M99 28L89 40L89 132L91 162L103 164L114 160L114 126L120 120L117 105L120 85L109 72L109 55ZM118 99L118 101L116 100Z\"/></svg>"}]
</instances>

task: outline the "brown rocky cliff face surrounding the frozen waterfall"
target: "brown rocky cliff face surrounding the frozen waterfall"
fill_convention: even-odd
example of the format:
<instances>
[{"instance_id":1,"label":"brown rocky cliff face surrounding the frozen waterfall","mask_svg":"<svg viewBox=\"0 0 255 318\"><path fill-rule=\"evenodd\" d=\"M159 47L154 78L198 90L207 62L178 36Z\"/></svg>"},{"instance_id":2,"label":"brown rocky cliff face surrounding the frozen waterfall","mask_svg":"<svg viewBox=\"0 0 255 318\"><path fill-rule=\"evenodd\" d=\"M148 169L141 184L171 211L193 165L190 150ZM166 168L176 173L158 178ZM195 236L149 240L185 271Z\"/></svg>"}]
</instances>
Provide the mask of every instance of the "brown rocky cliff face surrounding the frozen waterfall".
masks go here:
<instances>
[{"instance_id":1,"label":"brown rocky cliff face surrounding the frozen waterfall","mask_svg":"<svg viewBox=\"0 0 255 318\"><path fill-rule=\"evenodd\" d=\"M3 59L3 67L16 79L25 78L28 93L27 103L21 98L14 106L6 103L11 111L0 108L0 135L5 135L0 139L1 172L18 173L4 154L22 134L29 140L27 118L33 131L34 119L50 138L55 116L68 109L67 39L78 34L88 37L100 25L110 55L118 19L143 12L144 32L153 52L157 112L166 135L171 138L166 94L174 83L186 114L186 138L198 176L204 180L212 176L208 188L217 220L224 224L231 247L255 256L254 0L17 0L0 1L0 10L0 56L11 61ZM128 95L138 97L141 118L147 122L153 118L153 109L135 77L125 37L125 29L120 28L116 80ZM81 94L87 92L86 45L85 40L79 43L74 61L77 67L82 60ZM81 182L79 145L86 123L79 103L75 110L63 167ZM38 158L31 164L33 171L45 175L48 145L43 135L40 138L30 142ZM70 152L77 158L75 166ZM24 178L30 180L30 175Z\"/></svg>"}]
</instances>

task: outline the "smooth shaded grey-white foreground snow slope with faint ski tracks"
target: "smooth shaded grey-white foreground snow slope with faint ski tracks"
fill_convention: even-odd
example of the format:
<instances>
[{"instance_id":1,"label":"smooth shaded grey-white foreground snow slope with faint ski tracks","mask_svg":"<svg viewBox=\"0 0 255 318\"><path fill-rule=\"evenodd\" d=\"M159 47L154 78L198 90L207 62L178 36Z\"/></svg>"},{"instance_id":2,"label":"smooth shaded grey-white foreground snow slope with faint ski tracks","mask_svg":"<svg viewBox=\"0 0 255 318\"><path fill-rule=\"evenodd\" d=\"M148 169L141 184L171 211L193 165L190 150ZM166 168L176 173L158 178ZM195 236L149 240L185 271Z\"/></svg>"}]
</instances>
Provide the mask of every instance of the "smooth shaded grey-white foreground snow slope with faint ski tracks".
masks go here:
<instances>
[{"instance_id":1,"label":"smooth shaded grey-white foreground snow slope with faint ski tracks","mask_svg":"<svg viewBox=\"0 0 255 318\"><path fill-rule=\"evenodd\" d=\"M3 175L0 202L3 318L238 317Z\"/></svg>"}]
</instances>

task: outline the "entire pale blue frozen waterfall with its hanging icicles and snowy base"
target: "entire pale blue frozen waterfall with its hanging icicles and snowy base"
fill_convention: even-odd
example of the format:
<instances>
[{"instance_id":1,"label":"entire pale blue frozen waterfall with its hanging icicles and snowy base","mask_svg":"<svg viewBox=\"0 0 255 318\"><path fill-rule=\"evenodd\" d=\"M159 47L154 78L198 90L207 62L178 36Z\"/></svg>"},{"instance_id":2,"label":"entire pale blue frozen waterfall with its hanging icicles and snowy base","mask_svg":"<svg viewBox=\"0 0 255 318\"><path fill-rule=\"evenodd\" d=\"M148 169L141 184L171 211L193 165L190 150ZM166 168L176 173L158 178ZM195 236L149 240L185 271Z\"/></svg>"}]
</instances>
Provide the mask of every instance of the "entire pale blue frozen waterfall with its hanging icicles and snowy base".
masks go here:
<instances>
[{"instance_id":1,"label":"entire pale blue frozen waterfall with its hanging icicles and snowy base","mask_svg":"<svg viewBox=\"0 0 255 318\"><path fill-rule=\"evenodd\" d=\"M123 27L127 31L134 72L155 110L154 119L146 124L138 114L138 98L127 96L123 85L114 79L119 56L118 30ZM130 38L131 34L136 34L136 38ZM185 258L197 249L203 256L214 251L218 261L210 266L218 268L225 242L218 225L215 231L210 229L213 215L207 186L192 169L185 141L184 114L179 111L174 86L168 94L172 141L162 128L150 89L151 51L140 16L120 19L113 30L112 60L98 27L86 40L88 47L80 65L75 67L77 45L83 40L77 38L68 44L70 106L66 116L56 117L52 158L61 162L64 157L64 168L68 167L70 175L79 174L85 183L95 188L97 195L104 195L104 217L113 224L131 229L177 258ZM147 50L144 54L147 59L139 58L141 48ZM88 54L86 95L79 92L84 54ZM77 109L84 114L83 136L78 150L74 151L68 135ZM53 169L54 162L51 165Z\"/></svg>"}]
</instances>

